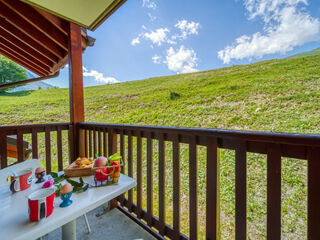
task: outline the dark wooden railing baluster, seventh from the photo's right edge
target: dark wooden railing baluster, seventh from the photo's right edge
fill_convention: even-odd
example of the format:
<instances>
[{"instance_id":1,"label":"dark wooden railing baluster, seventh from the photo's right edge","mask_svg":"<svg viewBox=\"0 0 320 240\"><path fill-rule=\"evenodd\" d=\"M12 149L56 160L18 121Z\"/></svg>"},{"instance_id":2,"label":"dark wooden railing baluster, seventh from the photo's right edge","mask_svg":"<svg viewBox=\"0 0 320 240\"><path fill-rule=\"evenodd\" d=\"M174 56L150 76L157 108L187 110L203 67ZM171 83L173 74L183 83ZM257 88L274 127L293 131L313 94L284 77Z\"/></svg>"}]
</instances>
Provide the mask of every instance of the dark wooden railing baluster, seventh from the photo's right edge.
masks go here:
<instances>
[{"instance_id":1,"label":"dark wooden railing baluster, seventh from the photo's right edge","mask_svg":"<svg viewBox=\"0 0 320 240\"><path fill-rule=\"evenodd\" d=\"M164 134L159 133L159 233L164 236L166 221L166 203L165 203L165 144Z\"/></svg>"}]
</instances>

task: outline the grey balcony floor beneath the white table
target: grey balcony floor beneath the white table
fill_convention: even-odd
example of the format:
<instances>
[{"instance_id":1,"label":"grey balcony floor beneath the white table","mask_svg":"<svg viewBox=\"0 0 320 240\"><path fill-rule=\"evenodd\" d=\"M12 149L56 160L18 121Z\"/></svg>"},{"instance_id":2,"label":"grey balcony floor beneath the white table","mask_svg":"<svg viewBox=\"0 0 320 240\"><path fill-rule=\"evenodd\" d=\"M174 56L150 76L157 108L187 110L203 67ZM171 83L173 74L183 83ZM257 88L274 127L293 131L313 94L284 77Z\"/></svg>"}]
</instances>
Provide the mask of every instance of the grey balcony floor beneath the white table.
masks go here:
<instances>
[{"instance_id":1,"label":"grey balcony floor beneath the white table","mask_svg":"<svg viewBox=\"0 0 320 240\"><path fill-rule=\"evenodd\" d=\"M117 239L117 240L154 240L155 238L138 224L120 212L118 209L108 211L100 217L96 214L102 211L102 207L96 208L87 213L88 221L91 227L91 233L88 233L84 217L77 219L77 239L81 240L99 240L99 239ZM61 239L61 228L49 233L43 237L43 240Z\"/></svg>"}]
</instances>

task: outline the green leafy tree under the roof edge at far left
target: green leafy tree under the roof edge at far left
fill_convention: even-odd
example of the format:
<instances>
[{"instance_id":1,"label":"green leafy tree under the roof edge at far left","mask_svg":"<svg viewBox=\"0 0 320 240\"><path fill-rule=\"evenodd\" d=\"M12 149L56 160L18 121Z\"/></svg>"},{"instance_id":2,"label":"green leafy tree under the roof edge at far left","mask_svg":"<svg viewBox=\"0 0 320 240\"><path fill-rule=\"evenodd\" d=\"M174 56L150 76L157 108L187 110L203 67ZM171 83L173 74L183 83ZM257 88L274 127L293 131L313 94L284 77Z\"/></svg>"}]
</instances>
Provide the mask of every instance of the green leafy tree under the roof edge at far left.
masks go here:
<instances>
[{"instance_id":1,"label":"green leafy tree under the roof edge at far left","mask_svg":"<svg viewBox=\"0 0 320 240\"><path fill-rule=\"evenodd\" d=\"M0 84L16 82L28 78L27 71L10 59L0 55ZM9 88L0 88L0 93L7 92Z\"/></svg>"}]
</instances>

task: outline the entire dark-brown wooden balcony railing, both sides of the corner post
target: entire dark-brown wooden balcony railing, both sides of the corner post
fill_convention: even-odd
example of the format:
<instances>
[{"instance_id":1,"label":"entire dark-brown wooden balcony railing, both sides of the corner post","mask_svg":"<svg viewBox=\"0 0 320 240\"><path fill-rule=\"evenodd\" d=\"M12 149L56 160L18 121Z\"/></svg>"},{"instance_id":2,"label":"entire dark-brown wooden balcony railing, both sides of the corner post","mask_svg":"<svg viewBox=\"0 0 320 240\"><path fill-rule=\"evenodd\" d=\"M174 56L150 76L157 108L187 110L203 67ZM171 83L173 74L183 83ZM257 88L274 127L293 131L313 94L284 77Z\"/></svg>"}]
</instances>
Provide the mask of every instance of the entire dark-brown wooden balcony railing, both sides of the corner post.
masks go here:
<instances>
[{"instance_id":1,"label":"entire dark-brown wooden balcony railing, both sides of the corner post","mask_svg":"<svg viewBox=\"0 0 320 240\"><path fill-rule=\"evenodd\" d=\"M7 157L6 142L8 135L16 135L18 162L23 161L26 138L32 145L32 157L43 159L47 173L53 168L62 170L77 155L73 153L73 128L69 123L0 127L1 168L15 161ZM235 238L247 238L247 154L257 153L267 155L267 239L280 239L281 158L306 160L307 238L320 239L320 135L94 123L80 123L76 131L84 134L80 146L86 156L121 153L126 162L122 172L135 178L137 187L118 198L118 208L158 239L199 238L199 192L203 191L198 187L199 168L205 172L205 236L219 238L220 149L235 151ZM206 158L201 165L200 148ZM187 157L182 155L184 149ZM182 167L188 172L188 206L181 204L181 192L186 190ZM172 209L168 209L171 194ZM188 219L181 223L185 209ZM172 211L170 221L168 211ZM183 234L186 225L188 232Z\"/></svg>"}]
</instances>

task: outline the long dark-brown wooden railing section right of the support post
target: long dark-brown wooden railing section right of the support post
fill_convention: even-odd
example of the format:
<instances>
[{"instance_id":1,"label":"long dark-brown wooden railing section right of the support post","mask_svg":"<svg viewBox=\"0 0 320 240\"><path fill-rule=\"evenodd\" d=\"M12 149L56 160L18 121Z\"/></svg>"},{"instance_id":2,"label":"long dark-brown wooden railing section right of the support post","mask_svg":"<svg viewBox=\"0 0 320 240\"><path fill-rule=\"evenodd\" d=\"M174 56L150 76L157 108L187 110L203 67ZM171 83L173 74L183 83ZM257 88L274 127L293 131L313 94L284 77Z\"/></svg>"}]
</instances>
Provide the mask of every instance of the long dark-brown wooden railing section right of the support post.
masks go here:
<instances>
[{"instance_id":1,"label":"long dark-brown wooden railing section right of the support post","mask_svg":"<svg viewBox=\"0 0 320 240\"><path fill-rule=\"evenodd\" d=\"M159 239L163 239L164 236L170 239L198 238L197 147L199 146L206 148L206 164L201 166L206 169L206 239L217 239L219 235L217 192L219 149L235 151L235 239L247 238L247 153L249 152L267 155L267 239L281 238L282 157L308 161L307 234L308 239L320 239L320 135L94 123L81 123L79 129L84 130L86 156L95 153L108 156L119 151L125 157L128 166L122 171L126 171L125 174L136 179L137 188L129 191L127 197L119 198L121 206L118 208ZM157 174L153 166L154 141L158 145ZM168 142L172 149L166 149ZM182 207L180 178L183 174L180 159L181 145L188 146L189 155L189 221L183 223L189 225L189 233L185 235L181 233L180 221ZM172 154L173 160L171 166L173 176L170 176L173 188L172 226L166 223L168 191L165 181L169 177L165 167L168 155L166 152ZM146 168L142 166L144 154L146 154ZM153 202L155 183L158 184L157 209L154 209ZM143 184L146 184L146 199L142 197ZM146 209L143 209L142 205L145 202ZM155 217L154 212L157 212L159 217Z\"/></svg>"}]
</instances>

